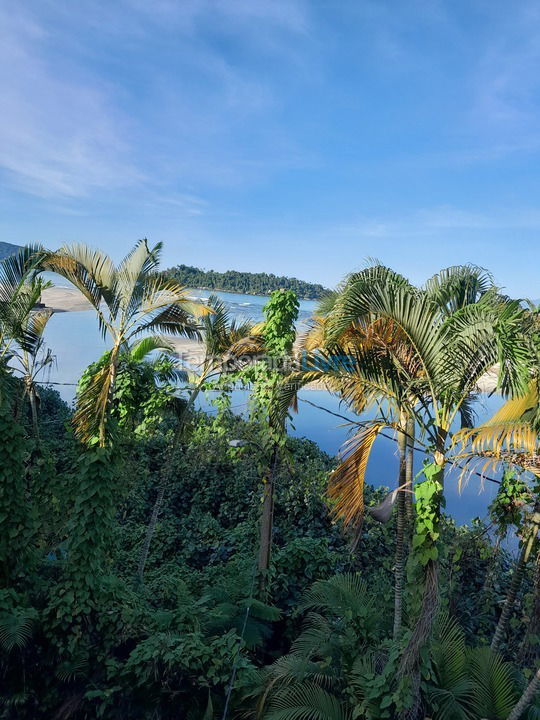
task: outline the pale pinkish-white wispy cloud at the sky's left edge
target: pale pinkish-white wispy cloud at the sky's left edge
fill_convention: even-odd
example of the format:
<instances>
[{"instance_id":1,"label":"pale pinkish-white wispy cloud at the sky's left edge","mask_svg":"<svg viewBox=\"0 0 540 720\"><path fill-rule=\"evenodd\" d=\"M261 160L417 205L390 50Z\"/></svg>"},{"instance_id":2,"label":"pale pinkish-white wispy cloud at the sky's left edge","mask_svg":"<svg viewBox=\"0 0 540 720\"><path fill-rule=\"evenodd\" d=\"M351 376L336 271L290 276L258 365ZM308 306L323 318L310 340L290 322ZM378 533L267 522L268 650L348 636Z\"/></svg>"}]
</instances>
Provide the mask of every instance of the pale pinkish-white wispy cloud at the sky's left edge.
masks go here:
<instances>
[{"instance_id":1,"label":"pale pinkish-white wispy cloud at the sky's left edge","mask_svg":"<svg viewBox=\"0 0 540 720\"><path fill-rule=\"evenodd\" d=\"M47 32L31 17L0 10L0 166L12 185L42 196L84 196L141 177L122 119L106 92L62 77L44 52Z\"/></svg>"}]
</instances>

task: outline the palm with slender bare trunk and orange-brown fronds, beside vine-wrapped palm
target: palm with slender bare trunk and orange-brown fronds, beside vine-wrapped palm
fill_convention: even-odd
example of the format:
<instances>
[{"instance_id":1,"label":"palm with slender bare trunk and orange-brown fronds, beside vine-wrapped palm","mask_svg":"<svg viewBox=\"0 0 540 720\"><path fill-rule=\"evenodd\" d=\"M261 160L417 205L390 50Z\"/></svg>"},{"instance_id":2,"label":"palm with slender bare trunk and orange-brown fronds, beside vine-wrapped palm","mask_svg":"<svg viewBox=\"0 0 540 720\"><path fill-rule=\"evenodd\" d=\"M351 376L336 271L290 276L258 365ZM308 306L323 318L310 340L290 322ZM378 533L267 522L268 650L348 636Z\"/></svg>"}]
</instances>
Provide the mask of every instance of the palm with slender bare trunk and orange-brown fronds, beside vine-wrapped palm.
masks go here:
<instances>
[{"instance_id":1,"label":"palm with slender bare trunk and orange-brown fronds, beside vine-wrapped palm","mask_svg":"<svg viewBox=\"0 0 540 720\"><path fill-rule=\"evenodd\" d=\"M364 273L351 276L339 292L324 301L326 316L319 317L304 343L308 350L322 348L327 353L327 364L334 366L336 373L323 372L321 379L355 412L371 406L380 410L385 407L387 415L390 411L386 420L383 418L382 422L368 424L363 433L357 434L351 443L352 451L332 476L330 494L336 499L338 514L347 524L356 523L358 528L364 512L363 480L371 445L384 426L397 431L400 454L398 488L401 491L392 494L392 499L397 499L394 636L398 637L406 559L405 527L412 524L412 504L408 498L412 495L415 425L418 423L422 427L430 422L429 418L425 418L425 410L429 407L431 388L425 382L420 353L397 315L369 307L361 313L355 309L351 312L345 306L348 315L338 320L347 294L350 295L358 283L367 287L371 282L387 287L394 285L404 302L411 306L423 303L424 314L427 315L429 310L438 318L439 324L468 304L493 293L493 282L482 268L459 266L434 276L420 291L401 275L376 265ZM391 302L387 304L391 306ZM392 308L387 309L391 311ZM412 311L412 307L410 309ZM338 332L335 331L336 322L339 323ZM321 364L315 359L314 367L317 363ZM310 381L313 376L305 379ZM467 421L470 420L469 409L469 398L465 397L460 411Z\"/></svg>"}]
</instances>

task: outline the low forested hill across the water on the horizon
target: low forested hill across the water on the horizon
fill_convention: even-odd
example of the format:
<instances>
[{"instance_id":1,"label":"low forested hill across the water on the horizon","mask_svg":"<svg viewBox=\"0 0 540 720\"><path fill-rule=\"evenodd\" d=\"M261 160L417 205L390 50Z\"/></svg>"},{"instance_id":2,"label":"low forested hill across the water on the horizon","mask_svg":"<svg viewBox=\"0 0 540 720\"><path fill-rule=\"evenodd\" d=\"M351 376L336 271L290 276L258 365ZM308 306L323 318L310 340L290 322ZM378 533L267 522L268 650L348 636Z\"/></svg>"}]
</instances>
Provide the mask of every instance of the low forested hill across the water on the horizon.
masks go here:
<instances>
[{"instance_id":1,"label":"low forested hill across the water on the horizon","mask_svg":"<svg viewBox=\"0 0 540 720\"><path fill-rule=\"evenodd\" d=\"M237 270L216 272L201 270L191 265L177 265L165 270L178 282L187 287L224 290L226 292L245 293L246 295L269 295L273 290L285 288L294 290L299 298L317 300L328 290L317 283L308 283L297 278L278 277L271 273L248 273Z\"/></svg>"}]
</instances>

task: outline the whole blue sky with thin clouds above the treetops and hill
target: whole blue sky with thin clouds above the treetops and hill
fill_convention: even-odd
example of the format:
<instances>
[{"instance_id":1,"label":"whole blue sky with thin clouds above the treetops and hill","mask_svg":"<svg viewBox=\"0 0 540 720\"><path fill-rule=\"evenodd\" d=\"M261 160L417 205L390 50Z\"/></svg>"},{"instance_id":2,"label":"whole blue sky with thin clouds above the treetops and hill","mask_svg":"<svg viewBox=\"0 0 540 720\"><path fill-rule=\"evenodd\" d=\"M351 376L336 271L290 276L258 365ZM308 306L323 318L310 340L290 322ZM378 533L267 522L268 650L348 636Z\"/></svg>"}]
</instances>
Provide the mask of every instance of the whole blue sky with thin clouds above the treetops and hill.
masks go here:
<instances>
[{"instance_id":1,"label":"whole blue sky with thin clouds above the treetops and hill","mask_svg":"<svg viewBox=\"0 0 540 720\"><path fill-rule=\"evenodd\" d=\"M540 296L540 5L0 0L0 239Z\"/></svg>"}]
</instances>

